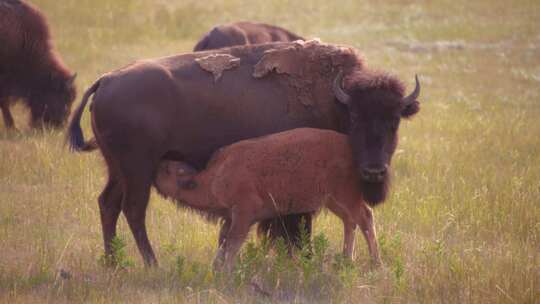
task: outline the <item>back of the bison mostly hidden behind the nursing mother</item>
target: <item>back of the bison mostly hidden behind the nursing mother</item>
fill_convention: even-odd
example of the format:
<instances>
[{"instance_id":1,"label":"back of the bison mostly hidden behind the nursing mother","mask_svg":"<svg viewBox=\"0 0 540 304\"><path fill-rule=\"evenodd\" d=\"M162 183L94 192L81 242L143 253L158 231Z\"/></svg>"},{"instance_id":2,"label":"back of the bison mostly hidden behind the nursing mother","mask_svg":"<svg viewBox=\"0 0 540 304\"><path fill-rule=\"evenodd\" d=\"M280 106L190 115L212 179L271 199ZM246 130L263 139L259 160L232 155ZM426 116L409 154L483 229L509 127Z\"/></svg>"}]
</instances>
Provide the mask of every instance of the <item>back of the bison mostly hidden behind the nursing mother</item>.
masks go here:
<instances>
[{"instance_id":1,"label":"back of the bison mostly hidden behind the nursing mother","mask_svg":"<svg viewBox=\"0 0 540 304\"><path fill-rule=\"evenodd\" d=\"M304 38L275 25L255 22L234 22L214 27L204 34L193 51L215 50L235 45L269 42L290 42Z\"/></svg>"}]
</instances>

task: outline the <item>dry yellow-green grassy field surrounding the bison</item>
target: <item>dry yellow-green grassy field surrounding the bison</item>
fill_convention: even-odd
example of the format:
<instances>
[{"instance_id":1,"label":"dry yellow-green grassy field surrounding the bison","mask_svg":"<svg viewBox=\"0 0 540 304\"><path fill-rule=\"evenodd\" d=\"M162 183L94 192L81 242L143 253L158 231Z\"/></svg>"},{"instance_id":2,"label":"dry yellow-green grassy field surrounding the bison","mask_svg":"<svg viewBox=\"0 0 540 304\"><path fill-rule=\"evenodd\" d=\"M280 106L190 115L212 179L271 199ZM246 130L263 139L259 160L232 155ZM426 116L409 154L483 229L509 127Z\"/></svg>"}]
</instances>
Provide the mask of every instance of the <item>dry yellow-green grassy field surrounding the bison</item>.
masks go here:
<instances>
[{"instance_id":1,"label":"dry yellow-green grassy field surrounding the bison","mask_svg":"<svg viewBox=\"0 0 540 304\"><path fill-rule=\"evenodd\" d=\"M216 226L155 193L147 224L160 267L144 269L123 218L125 267L101 267L99 153L70 154L63 131L29 130L17 106L21 132L0 124L0 302L539 303L539 2L33 2L79 96L104 72L247 19L353 45L409 88L418 73L422 110L402 124L392 194L375 210L382 268L360 235L356 260L340 259L342 225L323 213L314 259L253 241L231 279L210 271Z\"/></svg>"}]
</instances>

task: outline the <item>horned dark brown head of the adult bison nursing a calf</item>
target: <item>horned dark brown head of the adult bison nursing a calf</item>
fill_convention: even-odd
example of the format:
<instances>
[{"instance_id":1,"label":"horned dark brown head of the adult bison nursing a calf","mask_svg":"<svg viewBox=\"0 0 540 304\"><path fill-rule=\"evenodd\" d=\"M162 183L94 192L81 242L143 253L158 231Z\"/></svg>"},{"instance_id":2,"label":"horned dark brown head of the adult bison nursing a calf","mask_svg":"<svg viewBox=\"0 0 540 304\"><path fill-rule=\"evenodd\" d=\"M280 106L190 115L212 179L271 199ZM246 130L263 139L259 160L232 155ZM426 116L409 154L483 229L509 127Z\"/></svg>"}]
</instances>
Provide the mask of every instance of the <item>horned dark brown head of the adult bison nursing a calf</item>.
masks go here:
<instances>
[{"instance_id":1,"label":"horned dark brown head of the adult bison nursing a calf","mask_svg":"<svg viewBox=\"0 0 540 304\"><path fill-rule=\"evenodd\" d=\"M349 140L362 195L375 205L386 198L388 170L401 118L412 117L420 110L420 83L416 77L414 91L403 96L401 82L388 74L354 73L347 77L345 89L342 80L340 72L334 81L334 94L349 112Z\"/></svg>"}]
</instances>

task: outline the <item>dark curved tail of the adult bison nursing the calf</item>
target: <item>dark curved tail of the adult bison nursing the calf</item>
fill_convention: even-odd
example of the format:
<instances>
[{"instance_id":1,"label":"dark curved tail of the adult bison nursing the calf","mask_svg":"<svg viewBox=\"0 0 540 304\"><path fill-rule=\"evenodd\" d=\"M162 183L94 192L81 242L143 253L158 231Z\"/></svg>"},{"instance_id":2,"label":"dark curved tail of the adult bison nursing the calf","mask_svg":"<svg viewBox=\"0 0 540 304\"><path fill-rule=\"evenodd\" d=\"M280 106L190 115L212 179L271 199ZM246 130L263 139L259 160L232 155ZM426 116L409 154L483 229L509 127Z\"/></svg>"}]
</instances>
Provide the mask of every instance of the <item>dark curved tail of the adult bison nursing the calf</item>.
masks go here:
<instances>
[{"instance_id":1,"label":"dark curved tail of the adult bison nursing the calf","mask_svg":"<svg viewBox=\"0 0 540 304\"><path fill-rule=\"evenodd\" d=\"M85 142L84 141L84 134L81 129L81 117L84 112L84 108L86 107L86 104L88 103L88 99L92 94L94 94L99 87L99 80L96 81L83 95L83 98L81 100L81 104L75 110L75 113L73 114L73 117L71 118L71 121L69 122L68 126L68 133L66 141L69 144L69 149L71 151L92 151L95 148L97 148L97 145L94 144L94 141Z\"/></svg>"}]
</instances>

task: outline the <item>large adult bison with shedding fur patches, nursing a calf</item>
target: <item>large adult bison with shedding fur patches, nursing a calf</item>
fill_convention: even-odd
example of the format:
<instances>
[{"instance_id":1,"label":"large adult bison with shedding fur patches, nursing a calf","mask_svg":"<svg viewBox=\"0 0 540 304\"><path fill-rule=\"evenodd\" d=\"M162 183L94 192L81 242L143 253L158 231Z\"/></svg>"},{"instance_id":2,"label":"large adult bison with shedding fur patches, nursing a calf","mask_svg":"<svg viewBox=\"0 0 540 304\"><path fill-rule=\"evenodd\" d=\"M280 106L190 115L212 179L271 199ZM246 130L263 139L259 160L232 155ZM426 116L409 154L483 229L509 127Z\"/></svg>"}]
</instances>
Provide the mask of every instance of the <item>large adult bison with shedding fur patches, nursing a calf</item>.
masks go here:
<instances>
[{"instance_id":1,"label":"large adult bison with shedding fur patches, nursing a calf","mask_svg":"<svg viewBox=\"0 0 540 304\"><path fill-rule=\"evenodd\" d=\"M364 199L385 199L402 117L419 110L418 79L405 96L393 76L368 69L353 48L318 41L238 46L142 60L84 94L68 128L73 150L92 94L92 130L109 179L99 197L105 253L120 211L146 264L156 263L145 215L162 159L200 170L239 140L312 127L349 135Z\"/></svg>"}]
</instances>

